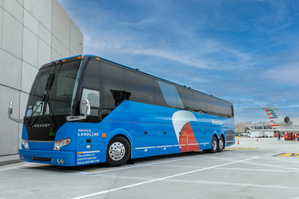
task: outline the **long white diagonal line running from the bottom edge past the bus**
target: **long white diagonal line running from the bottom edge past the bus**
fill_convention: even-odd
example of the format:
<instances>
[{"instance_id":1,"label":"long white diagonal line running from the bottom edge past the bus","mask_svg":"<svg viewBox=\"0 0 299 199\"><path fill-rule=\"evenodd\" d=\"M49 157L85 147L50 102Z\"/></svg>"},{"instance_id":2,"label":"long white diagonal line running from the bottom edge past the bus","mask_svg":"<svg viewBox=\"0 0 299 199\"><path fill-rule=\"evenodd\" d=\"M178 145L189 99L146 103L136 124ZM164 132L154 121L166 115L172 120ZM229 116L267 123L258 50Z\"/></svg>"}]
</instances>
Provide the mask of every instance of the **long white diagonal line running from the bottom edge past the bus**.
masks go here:
<instances>
[{"instance_id":1,"label":"long white diagonal line running from the bottom edge past the bus","mask_svg":"<svg viewBox=\"0 0 299 199\"><path fill-rule=\"evenodd\" d=\"M254 157L254 158L257 158L257 157ZM124 187L120 187L120 188L116 188L116 189L112 189L112 190L106 190L106 191L98 192L98 193L94 193L94 194L88 194L88 195L85 195L85 196L80 196L80 197L76 197L76 198L72 198L72 199L83 199L83 198L87 198L87 197L91 197L91 196L96 196L96 195L100 195L100 194L114 192L114 191L117 191L117 190L126 189L126 188L129 188L129 187L135 187L135 186L138 186L138 185L143 185L143 184L147 184L147 183L151 183L151 182L155 182L155 181L160 181L160 180L164 180L164 179L168 179L168 178L173 178L173 177L176 177L176 176L182 176L182 175L191 174L191 173L198 172L198 171L203 171L203 170L207 170L207 169L221 167L221 166L224 166L224 165L230 165L230 164L234 164L234 163L238 163L238 162L244 162L246 160L251 160L251 159L253 159L253 158L249 158L249 159L245 159L245 160L239 160L239 161L236 161L236 162L230 162L230 163L226 163L226 164L222 164L222 165L217 165L217 166L208 167L208 168L204 168L204 169L199 169L199 170L195 170L195 171L185 172L185 173L181 173L181 174L176 174L176 175L173 175L173 176L158 178L158 179L155 179L155 180L150 180L150 181L146 181L146 182L142 182L142 183L136 183L136 184L133 184L133 185L128 185L128 186L124 186Z\"/></svg>"}]
</instances>

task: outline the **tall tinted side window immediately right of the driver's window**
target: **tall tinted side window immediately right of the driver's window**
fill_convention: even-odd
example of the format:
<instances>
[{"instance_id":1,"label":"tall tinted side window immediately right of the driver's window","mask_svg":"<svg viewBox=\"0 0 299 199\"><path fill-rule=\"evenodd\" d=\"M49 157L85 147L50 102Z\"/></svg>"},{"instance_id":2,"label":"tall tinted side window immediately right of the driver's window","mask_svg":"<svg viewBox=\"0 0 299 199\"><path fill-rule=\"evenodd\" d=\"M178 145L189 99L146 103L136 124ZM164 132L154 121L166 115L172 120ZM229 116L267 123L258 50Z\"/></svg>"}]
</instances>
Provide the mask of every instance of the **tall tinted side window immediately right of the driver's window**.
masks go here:
<instances>
[{"instance_id":1,"label":"tall tinted side window immediately right of the driver's window","mask_svg":"<svg viewBox=\"0 0 299 199\"><path fill-rule=\"evenodd\" d=\"M106 117L124 99L117 94L125 92L124 68L101 62L102 67L102 116ZM112 93L113 92L113 93Z\"/></svg>"}]
</instances>

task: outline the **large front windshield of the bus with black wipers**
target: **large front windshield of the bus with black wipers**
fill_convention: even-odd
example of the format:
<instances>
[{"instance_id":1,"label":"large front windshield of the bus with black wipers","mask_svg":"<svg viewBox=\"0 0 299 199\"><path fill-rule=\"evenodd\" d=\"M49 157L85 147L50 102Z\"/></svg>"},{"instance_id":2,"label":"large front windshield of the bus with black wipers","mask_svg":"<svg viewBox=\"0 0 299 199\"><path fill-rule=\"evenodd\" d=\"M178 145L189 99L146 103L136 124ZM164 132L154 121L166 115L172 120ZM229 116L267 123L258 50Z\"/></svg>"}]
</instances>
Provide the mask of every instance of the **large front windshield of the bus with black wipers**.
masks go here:
<instances>
[{"instance_id":1,"label":"large front windshield of the bus with black wipers","mask_svg":"<svg viewBox=\"0 0 299 199\"><path fill-rule=\"evenodd\" d=\"M61 63L56 69L52 66L39 70L29 94L26 116L30 116L37 107L33 115L43 113L44 108L41 102L47 93L48 86L50 86L48 91L49 100L45 114L72 113L81 62L83 61ZM54 77L52 83L50 83L52 75Z\"/></svg>"}]
</instances>

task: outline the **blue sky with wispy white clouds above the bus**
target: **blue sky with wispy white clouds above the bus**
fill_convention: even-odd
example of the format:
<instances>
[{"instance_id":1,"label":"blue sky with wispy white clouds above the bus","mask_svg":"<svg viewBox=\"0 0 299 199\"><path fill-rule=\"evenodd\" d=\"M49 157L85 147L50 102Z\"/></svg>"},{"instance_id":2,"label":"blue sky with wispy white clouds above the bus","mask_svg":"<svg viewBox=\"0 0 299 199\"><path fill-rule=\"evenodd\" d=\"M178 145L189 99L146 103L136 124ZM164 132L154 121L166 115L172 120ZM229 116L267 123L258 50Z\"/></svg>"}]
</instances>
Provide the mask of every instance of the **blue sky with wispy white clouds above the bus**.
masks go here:
<instances>
[{"instance_id":1,"label":"blue sky with wispy white clouds above the bus","mask_svg":"<svg viewBox=\"0 0 299 199\"><path fill-rule=\"evenodd\" d=\"M299 117L299 0L61 0L84 53L234 103Z\"/></svg>"}]
</instances>

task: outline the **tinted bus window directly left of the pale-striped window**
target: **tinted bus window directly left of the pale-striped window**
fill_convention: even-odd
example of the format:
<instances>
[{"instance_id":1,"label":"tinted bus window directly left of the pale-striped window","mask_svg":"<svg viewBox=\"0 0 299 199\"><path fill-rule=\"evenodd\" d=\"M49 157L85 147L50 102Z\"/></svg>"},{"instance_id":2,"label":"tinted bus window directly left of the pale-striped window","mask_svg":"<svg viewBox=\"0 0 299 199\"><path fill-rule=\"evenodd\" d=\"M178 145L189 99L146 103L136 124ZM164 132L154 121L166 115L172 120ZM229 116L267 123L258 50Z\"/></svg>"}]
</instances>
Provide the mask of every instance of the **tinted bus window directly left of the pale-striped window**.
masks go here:
<instances>
[{"instance_id":1,"label":"tinted bus window directly left of the pale-striped window","mask_svg":"<svg viewBox=\"0 0 299 199\"><path fill-rule=\"evenodd\" d=\"M152 78L125 70L125 84L131 101L154 104Z\"/></svg>"}]
</instances>

